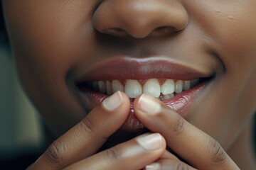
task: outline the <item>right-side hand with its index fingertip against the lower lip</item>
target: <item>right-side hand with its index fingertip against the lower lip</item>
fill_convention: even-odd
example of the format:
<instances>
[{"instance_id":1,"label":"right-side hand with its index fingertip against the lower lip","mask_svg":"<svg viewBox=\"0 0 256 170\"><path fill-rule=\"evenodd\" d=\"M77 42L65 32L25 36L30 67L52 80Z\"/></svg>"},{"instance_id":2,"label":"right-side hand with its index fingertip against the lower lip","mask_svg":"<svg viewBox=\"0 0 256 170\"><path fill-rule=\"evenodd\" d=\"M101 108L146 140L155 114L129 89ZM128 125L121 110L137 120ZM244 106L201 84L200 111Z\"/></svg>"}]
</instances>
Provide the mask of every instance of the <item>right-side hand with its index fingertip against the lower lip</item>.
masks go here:
<instances>
[{"instance_id":1,"label":"right-side hand with its index fingertip against the lower lip","mask_svg":"<svg viewBox=\"0 0 256 170\"><path fill-rule=\"evenodd\" d=\"M191 165L173 157L157 160L151 169L239 169L213 137L156 98L144 94L136 98L134 112L146 128L163 135L167 146Z\"/></svg>"}]
</instances>

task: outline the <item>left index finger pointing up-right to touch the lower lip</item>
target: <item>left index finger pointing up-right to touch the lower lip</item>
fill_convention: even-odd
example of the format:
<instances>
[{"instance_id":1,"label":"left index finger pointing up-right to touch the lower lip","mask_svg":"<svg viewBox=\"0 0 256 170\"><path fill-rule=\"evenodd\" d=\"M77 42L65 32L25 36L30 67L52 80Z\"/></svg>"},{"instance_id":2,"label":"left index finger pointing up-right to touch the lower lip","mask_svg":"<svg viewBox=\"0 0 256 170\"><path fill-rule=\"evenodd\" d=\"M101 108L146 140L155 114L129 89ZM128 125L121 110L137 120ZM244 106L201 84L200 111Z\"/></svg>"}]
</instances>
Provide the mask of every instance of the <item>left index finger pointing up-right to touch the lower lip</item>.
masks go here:
<instances>
[{"instance_id":1,"label":"left index finger pointing up-right to touch the lower lip","mask_svg":"<svg viewBox=\"0 0 256 170\"><path fill-rule=\"evenodd\" d=\"M128 114L129 98L117 91L55 140L29 169L63 169L90 156L122 126Z\"/></svg>"}]
</instances>

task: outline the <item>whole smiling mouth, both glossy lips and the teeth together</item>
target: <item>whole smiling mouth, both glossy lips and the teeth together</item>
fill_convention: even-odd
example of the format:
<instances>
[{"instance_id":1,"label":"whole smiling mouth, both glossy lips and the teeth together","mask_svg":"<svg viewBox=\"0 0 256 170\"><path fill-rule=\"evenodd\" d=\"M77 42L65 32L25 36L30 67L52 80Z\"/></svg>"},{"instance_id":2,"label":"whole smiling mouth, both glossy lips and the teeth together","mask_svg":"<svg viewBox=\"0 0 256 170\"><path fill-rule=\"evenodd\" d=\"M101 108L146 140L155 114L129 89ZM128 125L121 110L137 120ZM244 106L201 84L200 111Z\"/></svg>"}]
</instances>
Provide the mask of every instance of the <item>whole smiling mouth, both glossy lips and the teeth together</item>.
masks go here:
<instances>
[{"instance_id":1,"label":"whole smiling mouth, both glossy lips and the teeth together","mask_svg":"<svg viewBox=\"0 0 256 170\"><path fill-rule=\"evenodd\" d=\"M130 98L129 116L122 130L138 132L144 125L134 115L134 98L148 94L186 117L201 91L213 79L212 73L200 72L171 62L127 62L114 60L91 69L76 82L82 102L89 109L116 91ZM110 69L110 67L112 69Z\"/></svg>"}]
</instances>

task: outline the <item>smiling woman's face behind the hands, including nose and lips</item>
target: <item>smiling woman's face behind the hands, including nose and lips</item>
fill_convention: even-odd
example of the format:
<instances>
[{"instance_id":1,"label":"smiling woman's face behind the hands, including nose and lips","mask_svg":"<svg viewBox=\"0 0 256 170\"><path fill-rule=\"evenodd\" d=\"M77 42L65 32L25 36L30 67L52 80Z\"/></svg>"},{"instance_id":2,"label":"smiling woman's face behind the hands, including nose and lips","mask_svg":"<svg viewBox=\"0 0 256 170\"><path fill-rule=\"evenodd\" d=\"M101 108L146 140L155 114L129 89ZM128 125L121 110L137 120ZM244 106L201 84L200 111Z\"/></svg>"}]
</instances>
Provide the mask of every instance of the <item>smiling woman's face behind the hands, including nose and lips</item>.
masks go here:
<instances>
[{"instance_id":1,"label":"smiling woman's face behind the hands, including nose and lips","mask_svg":"<svg viewBox=\"0 0 256 170\"><path fill-rule=\"evenodd\" d=\"M147 90L157 91L166 79L206 78L174 98L160 98L225 149L255 111L255 0L3 4L23 87L57 135L107 96L102 87L91 90L97 81L104 86L117 79L122 86L115 88L128 94L148 79L157 82Z\"/></svg>"}]
</instances>

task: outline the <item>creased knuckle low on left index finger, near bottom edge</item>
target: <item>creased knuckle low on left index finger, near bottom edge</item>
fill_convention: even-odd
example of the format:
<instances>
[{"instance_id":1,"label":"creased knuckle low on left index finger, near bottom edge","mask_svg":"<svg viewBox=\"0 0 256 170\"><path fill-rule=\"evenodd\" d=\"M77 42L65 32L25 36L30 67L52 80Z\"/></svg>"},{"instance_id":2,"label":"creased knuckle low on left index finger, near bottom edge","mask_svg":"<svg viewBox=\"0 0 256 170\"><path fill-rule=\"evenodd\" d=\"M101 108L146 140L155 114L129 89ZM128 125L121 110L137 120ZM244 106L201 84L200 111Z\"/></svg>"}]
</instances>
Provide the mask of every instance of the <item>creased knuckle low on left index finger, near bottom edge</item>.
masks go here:
<instances>
[{"instance_id":1,"label":"creased knuckle low on left index finger, near bottom edge","mask_svg":"<svg viewBox=\"0 0 256 170\"><path fill-rule=\"evenodd\" d=\"M65 162L64 146L59 140L55 140L46 150L46 159L50 164L61 166Z\"/></svg>"}]
</instances>

